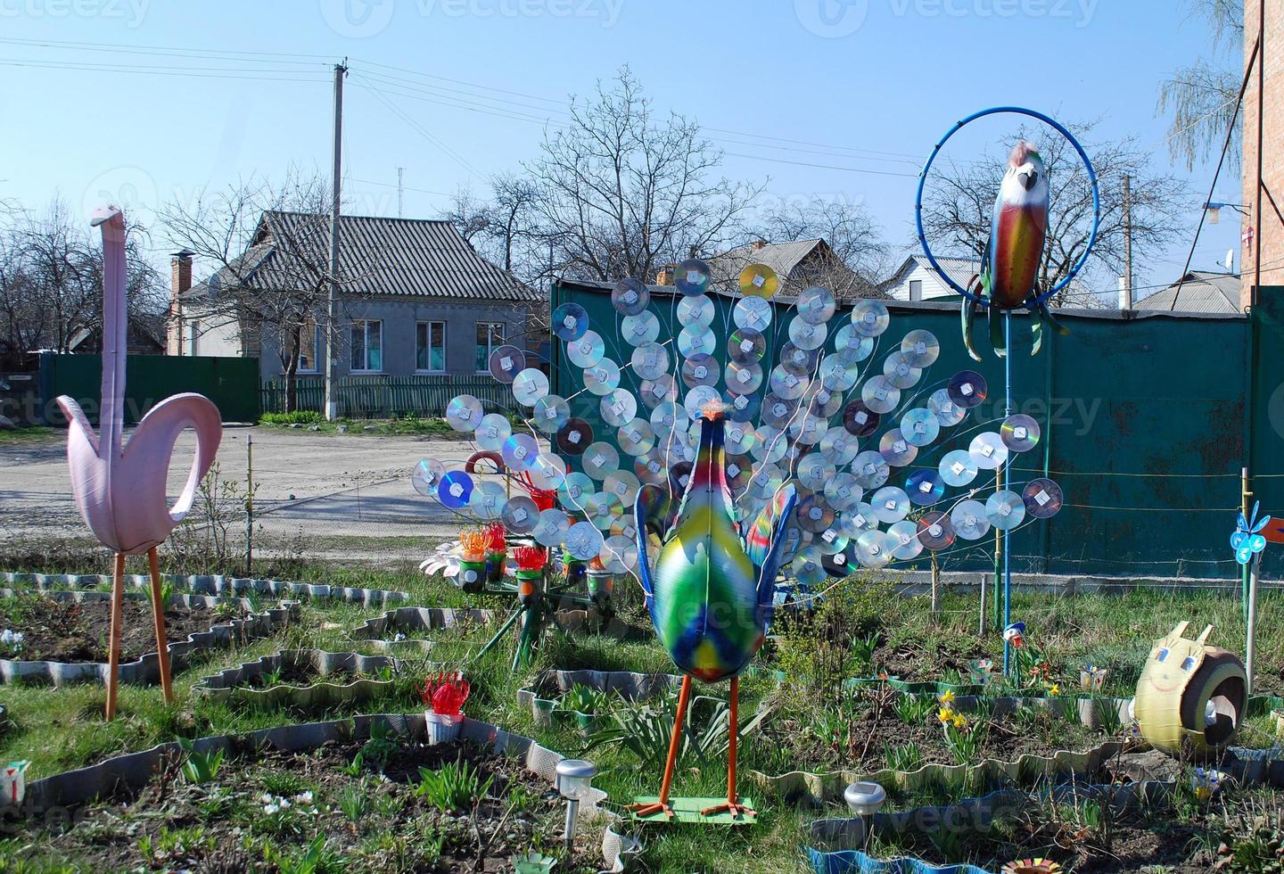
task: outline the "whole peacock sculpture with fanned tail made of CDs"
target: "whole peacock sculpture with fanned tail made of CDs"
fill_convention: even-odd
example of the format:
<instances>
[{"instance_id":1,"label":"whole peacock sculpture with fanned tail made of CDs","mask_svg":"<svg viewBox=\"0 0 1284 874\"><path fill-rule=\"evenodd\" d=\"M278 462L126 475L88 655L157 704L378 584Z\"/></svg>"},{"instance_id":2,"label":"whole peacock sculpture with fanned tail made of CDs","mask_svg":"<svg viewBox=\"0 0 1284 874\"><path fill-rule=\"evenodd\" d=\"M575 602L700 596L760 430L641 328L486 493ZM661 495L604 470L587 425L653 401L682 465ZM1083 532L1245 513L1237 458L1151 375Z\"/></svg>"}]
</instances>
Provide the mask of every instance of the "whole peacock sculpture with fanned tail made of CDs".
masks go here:
<instances>
[{"instance_id":1,"label":"whole peacock sculpture with fanned tail made of CDs","mask_svg":"<svg viewBox=\"0 0 1284 874\"><path fill-rule=\"evenodd\" d=\"M645 590L684 679L661 791L641 800L642 819L752 820L736 792L737 676L781 603L823 597L826 579L860 567L1048 518L1063 499L1049 479L1011 484L1003 471L1036 445L1037 422L966 425L985 379L935 372L937 339L892 339L882 302L840 312L823 287L777 295L764 264L714 285L692 258L674 286L618 282L612 323L562 303L552 372L571 377L560 394L530 353L506 345L489 370L511 386L517 417L470 395L447 411L473 434L473 461L490 458L507 481L435 461L415 474L421 493L501 522L551 563L589 562ZM675 329L664 336L661 316ZM946 445L957 448L937 452ZM683 810L669 789L692 678L731 680L733 726L725 802Z\"/></svg>"}]
</instances>

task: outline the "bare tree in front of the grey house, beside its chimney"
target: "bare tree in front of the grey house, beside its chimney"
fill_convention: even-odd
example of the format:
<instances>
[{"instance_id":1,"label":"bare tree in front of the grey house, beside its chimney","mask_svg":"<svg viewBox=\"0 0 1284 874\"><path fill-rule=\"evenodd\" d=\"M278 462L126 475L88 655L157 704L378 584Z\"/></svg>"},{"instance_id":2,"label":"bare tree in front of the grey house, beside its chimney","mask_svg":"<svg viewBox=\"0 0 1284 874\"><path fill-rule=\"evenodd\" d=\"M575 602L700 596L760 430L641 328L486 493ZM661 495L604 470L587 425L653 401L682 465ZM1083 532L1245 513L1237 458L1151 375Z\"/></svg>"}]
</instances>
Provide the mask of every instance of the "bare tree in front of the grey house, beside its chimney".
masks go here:
<instances>
[{"instance_id":1,"label":"bare tree in front of the grey house, beside its chimney","mask_svg":"<svg viewBox=\"0 0 1284 874\"><path fill-rule=\"evenodd\" d=\"M306 334L317 330L331 344L338 335L327 309L331 282L351 295L377 268L340 264L339 275L331 272L329 210L329 184L294 171L280 186L234 184L159 210L171 241L213 267L185 308L235 323L247 347L275 340L286 411L298 404Z\"/></svg>"}]
</instances>

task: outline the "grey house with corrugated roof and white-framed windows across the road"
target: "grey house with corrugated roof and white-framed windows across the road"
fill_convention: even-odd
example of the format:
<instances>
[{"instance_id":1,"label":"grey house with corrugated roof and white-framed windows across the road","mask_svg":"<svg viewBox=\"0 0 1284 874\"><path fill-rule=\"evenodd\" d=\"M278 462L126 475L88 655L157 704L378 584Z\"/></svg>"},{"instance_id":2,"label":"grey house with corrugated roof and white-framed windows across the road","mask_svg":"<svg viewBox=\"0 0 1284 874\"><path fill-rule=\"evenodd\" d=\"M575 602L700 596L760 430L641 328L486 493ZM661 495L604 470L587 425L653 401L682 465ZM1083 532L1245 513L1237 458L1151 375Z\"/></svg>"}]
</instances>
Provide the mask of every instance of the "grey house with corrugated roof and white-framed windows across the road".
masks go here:
<instances>
[{"instance_id":1,"label":"grey house with corrugated roof and white-framed windows across the road","mask_svg":"<svg viewBox=\"0 0 1284 874\"><path fill-rule=\"evenodd\" d=\"M478 254L451 222L343 216L340 240L339 376L473 375L487 372L501 344L547 344L546 295ZM313 287L327 246L327 217L265 212L245 253L198 285L190 253L178 253L169 353L258 357L262 380L285 373L294 344L282 356L276 331L245 316L253 305L225 304ZM325 308L315 300L298 375L325 368Z\"/></svg>"}]
</instances>

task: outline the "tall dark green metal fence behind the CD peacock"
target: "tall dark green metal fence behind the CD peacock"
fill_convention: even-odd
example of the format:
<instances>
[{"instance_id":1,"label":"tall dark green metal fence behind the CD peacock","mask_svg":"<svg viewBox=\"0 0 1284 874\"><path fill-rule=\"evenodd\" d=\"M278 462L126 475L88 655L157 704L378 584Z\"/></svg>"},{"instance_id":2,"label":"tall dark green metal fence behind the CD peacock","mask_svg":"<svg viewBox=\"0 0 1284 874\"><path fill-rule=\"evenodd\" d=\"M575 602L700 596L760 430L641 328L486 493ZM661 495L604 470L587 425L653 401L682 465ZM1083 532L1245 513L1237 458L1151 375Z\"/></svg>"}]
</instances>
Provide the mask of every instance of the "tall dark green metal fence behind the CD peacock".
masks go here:
<instances>
[{"instance_id":1,"label":"tall dark green metal fence behind the CD peacock","mask_svg":"<svg viewBox=\"0 0 1284 874\"><path fill-rule=\"evenodd\" d=\"M555 290L553 305L565 302L582 304L591 325L606 339L607 356L621 364L628 362L632 348L615 331L619 320L609 289L568 282ZM675 300L652 298L661 338L675 338L682 329L670 303ZM733 327L733 302L718 298L715 303L714 330L722 344ZM905 332L927 329L940 339L941 357L919 386L936 388L959 370L980 371L989 381L989 397L962 427L1003 417L1003 361L987 352L980 364L967 357L957 304L891 303L889 308L892 321L873 359L877 367ZM833 317L831 334L849 312ZM1284 308L1272 305L1254 316L1254 325L1261 321L1254 329L1261 335L1256 344L1257 379L1263 384L1256 390L1253 416L1245 415L1251 331L1243 316L1067 314L1063 321L1070 335L1046 336L1037 357L1028 354L1027 317L1014 316L1013 407L1034 416L1044 436L1036 450L1017 458L1013 479L1052 476L1064 488L1066 506L1048 522L1014 533L1013 571L1236 576L1228 538L1240 502L1245 440L1252 445L1263 510L1284 515L1284 483L1269 479L1284 474L1281 312ZM777 313L776 345L787 339L785 326L792 318L783 308ZM984 325L977 327L982 344L985 332ZM673 344L669 349L677 354ZM769 348L768 356L773 354ZM625 388L638 393L638 381L628 367L623 380ZM565 349L555 349L552 390L570 398L582 386L582 372L566 359ZM587 418L597 439L614 441L616 429L603 425L597 402L596 395L580 394L571 400L573 415ZM1269 409L1276 413L1278 427L1272 427ZM648 413L642 408L638 415ZM922 452L914 466L935 468L945 452L966 448L976 433ZM1284 572L1284 549L1279 552L1279 563L1267 561L1266 575ZM942 565L949 570L993 569L993 542L942 553Z\"/></svg>"}]
</instances>

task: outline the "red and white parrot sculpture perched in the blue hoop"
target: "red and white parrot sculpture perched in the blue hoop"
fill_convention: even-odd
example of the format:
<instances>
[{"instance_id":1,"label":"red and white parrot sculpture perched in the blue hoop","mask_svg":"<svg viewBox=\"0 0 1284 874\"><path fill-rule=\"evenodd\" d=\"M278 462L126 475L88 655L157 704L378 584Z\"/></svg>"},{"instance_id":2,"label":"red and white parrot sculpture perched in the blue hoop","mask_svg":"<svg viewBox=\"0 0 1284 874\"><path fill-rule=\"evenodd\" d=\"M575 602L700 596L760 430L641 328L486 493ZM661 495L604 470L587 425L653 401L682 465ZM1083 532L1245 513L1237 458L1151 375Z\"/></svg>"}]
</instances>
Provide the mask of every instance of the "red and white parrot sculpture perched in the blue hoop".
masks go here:
<instances>
[{"instance_id":1,"label":"red and white parrot sculpture perched in the blue hoop","mask_svg":"<svg viewBox=\"0 0 1284 874\"><path fill-rule=\"evenodd\" d=\"M1008 349L1003 320L994 318L995 309L1027 307L1034 313L1031 354L1037 354L1043 345L1044 320L1057 331L1064 332L1043 302L1032 302L1037 296L1048 239L1048 171L1043 158L1030 142L1022 140L1008 157L1008 168L994 201L990 239L981 257L981 272L969 282L969 291L985 302L989 309L990 343L1000 358L1008 354ZM963 302L963 343L968 354L981 361L972 344L976 307L975 300Z\"/></svg>"}]
</instances>

